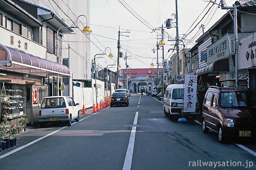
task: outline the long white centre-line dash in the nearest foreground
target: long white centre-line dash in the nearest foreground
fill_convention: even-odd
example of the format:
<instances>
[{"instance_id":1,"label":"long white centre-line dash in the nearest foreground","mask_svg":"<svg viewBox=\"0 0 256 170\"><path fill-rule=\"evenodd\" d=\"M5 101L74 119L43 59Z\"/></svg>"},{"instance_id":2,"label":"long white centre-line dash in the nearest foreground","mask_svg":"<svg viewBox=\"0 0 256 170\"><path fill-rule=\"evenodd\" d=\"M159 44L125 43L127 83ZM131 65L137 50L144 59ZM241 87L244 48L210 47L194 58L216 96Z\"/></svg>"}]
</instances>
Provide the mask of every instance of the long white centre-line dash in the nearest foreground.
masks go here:
<instances>
[{"instance_id":1,"label":"long white centre-line dash in the nearest foreground","mask_svg":"<svg viewBox=\"0 0 256 170\"><path fill-rule=\"evenodd\" d=\"M134 118L134 125L137 125L138 114L139 112L136 112L136 115ZM127 149L125 160L124 160L123 170L130 170L132 167L132 155L134 150L135 134L136 134L136 126L132 127L129 145L128 145L128 149Z\"/></svg>"}]
</instances>

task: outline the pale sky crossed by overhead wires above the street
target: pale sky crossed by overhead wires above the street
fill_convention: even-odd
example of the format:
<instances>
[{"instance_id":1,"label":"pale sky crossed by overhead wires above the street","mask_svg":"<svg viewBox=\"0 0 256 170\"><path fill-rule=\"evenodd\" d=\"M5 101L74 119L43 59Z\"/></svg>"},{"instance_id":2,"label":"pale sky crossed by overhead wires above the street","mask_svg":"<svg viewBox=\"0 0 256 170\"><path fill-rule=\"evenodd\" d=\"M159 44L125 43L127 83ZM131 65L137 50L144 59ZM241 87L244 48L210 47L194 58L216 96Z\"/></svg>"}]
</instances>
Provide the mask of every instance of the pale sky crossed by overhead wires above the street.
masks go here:
<instances>
[{"instance_id":1,"label":"pale sky crossed by overhead wires above the street","mask_svg":"<svg viewBox=\"0 0 256 170\"><path fill-rule=\"evenodd\" d=\"M214 1L214 0L213 0ZM226 0L227 6L232 6L235 0ZM216 0L219 4L220 0ZM225 0L224 0L225 3ZM209 3L209 0L177 0L178 4L178 25L179 37L183 40L186 48L195 45L195 41L203 34L201 24L204 25L204 31L207 31L215 22L227 11L218 8L218 5ZM126 9L128 8L128 9ZM96 59L96 65L102 67L117 64L117 40L120 27L120 52L129 56L127 65L129 68L152 68L153 62L156 68L156 43L161 34L159 30L162 24L165 27L167 18L175 18L172 14L176 13L175 0L90 0L90 19L89 25L92 33L90 40L90 56L95 54L111 53L114 57L111 59L107 55L104 58ZM173 20L175 22L175 20ZM198 24L198 25L197 25ZM153 31L153 29L156 29ZM193 30L194 29L194 30ZM176 50L173 49L175 41L176 28L164 28L164 59L171 57ZM107 48L109 47L109 48ZM180 46L181 48L181 46ZM105 50L106 49L106 50ZM168 52L169 50L169 52ZM158 50L158 60L162 61L162 50ZM121 69L125 69L125 60L120 58ZM117 71L117 66L108 68Z\"/></svg>"}]
</instances>

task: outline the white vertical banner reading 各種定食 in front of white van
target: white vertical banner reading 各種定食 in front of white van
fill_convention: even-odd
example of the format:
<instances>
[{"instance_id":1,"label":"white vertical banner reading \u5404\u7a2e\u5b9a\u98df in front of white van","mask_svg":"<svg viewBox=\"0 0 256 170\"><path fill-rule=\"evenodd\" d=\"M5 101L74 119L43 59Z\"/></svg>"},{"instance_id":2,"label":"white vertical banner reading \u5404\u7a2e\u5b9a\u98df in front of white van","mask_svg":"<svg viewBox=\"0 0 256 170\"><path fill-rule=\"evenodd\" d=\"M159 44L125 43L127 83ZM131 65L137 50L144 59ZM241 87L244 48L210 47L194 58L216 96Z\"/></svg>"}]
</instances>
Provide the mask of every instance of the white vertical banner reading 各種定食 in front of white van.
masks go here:
<instances>
[{"instance_id":1,"label":"white vertical banner reading \u5404\u7a2e\u5b9a\u98df in front of white van","mask_svg":"<svg viewBox=\"0 0 256 170\"><path fill-rule=\"evenodd\" d=\"M185 74L183 112L196 112L197 75Z\"/></svg>"}]
</instances>

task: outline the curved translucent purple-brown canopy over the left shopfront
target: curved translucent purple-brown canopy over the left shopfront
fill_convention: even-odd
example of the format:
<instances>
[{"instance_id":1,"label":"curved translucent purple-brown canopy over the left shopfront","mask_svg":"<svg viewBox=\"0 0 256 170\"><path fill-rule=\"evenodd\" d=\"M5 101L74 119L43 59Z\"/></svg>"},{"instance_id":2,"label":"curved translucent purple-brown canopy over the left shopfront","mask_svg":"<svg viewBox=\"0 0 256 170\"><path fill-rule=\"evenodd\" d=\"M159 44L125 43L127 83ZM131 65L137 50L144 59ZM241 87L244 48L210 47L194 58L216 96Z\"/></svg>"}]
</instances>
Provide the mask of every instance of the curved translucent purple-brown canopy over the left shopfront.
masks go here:
<instances>
[{"instance_id":1,"label":"curved translucent purple-brown canopy over the left shopfront","mask_svg":"<svg viewBox=\"0 0 256 170\"><path fill-rule=\"evenodd\" d=\"M6 70L34 74L38 76L71 76L70 69L65 65L27 54L0 44L0 63Z\"/></svg>"}]
</instances>

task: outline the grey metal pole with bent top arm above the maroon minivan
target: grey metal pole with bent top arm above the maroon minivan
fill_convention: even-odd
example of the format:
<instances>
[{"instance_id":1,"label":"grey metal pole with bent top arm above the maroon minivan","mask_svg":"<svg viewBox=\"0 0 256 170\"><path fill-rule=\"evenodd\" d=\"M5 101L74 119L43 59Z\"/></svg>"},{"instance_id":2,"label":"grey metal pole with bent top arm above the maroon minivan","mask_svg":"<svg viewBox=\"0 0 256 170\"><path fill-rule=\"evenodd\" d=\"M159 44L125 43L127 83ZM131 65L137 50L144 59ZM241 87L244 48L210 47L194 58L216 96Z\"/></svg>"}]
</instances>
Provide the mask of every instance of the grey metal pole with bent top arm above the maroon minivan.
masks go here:
<instances>
[{"instance_id":1,"label":"grey metal pole with bent top arm above the maroon minivan","mask_svg":"<svg viewBox=\"0 0 256 170\"><path fill-rule=\"evenodd\" d=\"M225 7L223 0L221 2L221 9L233 9L234 15L234 35L235 35L235 86L238 86L238 56L237 56L237 7Z\"/></svg>"}]
</instances>

